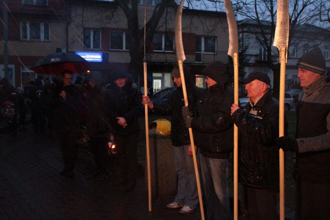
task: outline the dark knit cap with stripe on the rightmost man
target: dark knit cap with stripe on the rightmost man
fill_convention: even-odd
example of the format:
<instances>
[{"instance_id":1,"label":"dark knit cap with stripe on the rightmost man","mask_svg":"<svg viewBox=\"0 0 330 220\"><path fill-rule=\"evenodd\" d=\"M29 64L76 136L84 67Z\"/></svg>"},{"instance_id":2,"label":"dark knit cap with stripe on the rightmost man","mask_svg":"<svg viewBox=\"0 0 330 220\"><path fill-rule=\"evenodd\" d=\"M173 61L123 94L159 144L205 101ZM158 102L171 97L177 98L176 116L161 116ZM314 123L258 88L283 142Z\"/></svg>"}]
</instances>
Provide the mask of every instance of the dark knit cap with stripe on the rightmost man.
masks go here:
<instances>
[{"instance_id":1,"label":"dark knit cap with stripe on the rightmost man","mask_svg":"<svg viewBox=\"0 0 330 220\"><path fill-rule=\"evenodd\" d=\"M305 69L323 75L326 65L320 48L316 47L305 53L297 62L297 69Z\"/></svg>"}]
</instances>

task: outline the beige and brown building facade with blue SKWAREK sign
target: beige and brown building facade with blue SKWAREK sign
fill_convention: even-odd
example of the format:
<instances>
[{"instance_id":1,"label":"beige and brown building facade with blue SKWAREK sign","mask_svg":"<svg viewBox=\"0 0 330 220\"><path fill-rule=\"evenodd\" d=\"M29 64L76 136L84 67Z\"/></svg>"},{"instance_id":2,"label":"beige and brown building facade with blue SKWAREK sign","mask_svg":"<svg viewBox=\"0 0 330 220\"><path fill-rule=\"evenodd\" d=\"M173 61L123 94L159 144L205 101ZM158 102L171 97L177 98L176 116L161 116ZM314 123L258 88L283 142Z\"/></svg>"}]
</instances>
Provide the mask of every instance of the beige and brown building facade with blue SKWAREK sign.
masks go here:
<instances>
[{"instance_id":1,"label":"beige and brown building facade with blue SKWAREK sign","mask_svg":"<svg viewBox=\"0 0 330 220\"><path fill-rule=\"evenodd\" d=\"M147 1L147 21L159 0ZM144 26L145 5L138 5L139 28ZM131 56L128 25L121 8L112 1L13 0L8 2L9 68L15 87L24 86L36 74L29 68L54 52L74 52L89 61L90 70L108 80L112 71L127 69ZM177 64L174 32L177 7L169 7L156 28L147 51L148 82L158 91L173 86L170 71ZM3 34L3 27L1 33ZM186 60L205 86L201 70L214 60L228 64L228 25L224 12L184 9L182 40ZM141 39L143 40L143 39ZM0 46L3 67L3 45ZM3 77L3 68L1 72ZM78 73L83 74L83 73ZM47 75L45 75L47 76ZM143 75L142 75L143 76ZM47 76L49 78L54 76ZM143 79L138 79L137 84Z\"/></svg>"}]
</instances>

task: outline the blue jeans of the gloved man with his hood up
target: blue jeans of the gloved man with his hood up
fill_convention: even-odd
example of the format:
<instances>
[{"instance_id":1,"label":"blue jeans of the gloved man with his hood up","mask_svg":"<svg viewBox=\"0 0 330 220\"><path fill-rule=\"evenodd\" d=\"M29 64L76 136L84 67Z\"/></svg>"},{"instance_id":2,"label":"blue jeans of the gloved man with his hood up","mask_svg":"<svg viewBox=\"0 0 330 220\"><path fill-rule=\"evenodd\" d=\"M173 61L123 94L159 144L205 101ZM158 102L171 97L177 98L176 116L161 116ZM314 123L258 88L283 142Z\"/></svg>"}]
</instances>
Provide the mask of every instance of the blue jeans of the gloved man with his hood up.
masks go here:
<instances>
[{"instance_id":1,"label":"blue jeans of the gloved man with his hood up","mask_svg":"<svg viewBox=\"0 0 330 220\"><path fill-rule=\"evenodd\" d=\"M230 217L228 159L200 156L207 219Z\"/></svg>"}]
</instances>

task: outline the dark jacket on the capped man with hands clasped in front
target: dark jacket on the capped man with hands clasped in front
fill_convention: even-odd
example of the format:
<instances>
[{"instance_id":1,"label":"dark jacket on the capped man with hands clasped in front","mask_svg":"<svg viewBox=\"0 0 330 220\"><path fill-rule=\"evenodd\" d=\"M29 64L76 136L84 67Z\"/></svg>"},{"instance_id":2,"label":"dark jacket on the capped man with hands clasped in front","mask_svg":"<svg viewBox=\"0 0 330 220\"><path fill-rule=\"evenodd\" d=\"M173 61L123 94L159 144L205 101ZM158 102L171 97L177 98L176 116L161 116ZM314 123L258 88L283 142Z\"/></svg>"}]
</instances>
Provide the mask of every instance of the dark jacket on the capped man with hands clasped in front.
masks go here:
<instances>
[{"instance_id":1,"label":"dark jacket on the capped man with hands clasped in front","mask_svg":"<svg viewBox=\"0 0 330 220\"><path fill-rule=\"evenodd\" d=\"M104 107L106 116L110 121L111 132L117 135L136 134L140 131L139 113L142 103L139 91L132 86L130 77L126 74L116 72L116 77L128 78L126 84L119 88L114 81L110 83L110 89L106 92ZM117 78L117 79L119 79ZM117 117L123 117L127 126L123 128L119 125Z\"/></svg>"}]
</instances>

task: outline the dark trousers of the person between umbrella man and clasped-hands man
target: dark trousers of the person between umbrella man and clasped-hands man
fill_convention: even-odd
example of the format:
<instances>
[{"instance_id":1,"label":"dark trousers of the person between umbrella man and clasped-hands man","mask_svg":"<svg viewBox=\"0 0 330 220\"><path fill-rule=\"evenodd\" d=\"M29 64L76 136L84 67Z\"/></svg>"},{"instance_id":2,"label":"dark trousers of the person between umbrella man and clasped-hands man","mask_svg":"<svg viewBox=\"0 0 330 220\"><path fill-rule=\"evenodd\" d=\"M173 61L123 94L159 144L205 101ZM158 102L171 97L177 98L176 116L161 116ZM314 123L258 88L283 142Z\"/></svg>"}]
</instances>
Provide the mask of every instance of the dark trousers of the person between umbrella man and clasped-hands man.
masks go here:
<instances>
[{"instance_id":1,"label":"dark trousers of the person between umbrella man and clasped-hands man","mask_svg":"<svg viewBox=\"0 0 330 220\"><path fill-rule=\"evenodd\" d=\"M105 137L90 137L89 139L90 150L94 155L93 159L97 170L100 173L108 173L109 166L109 153L108 153L108 138Z\"/></svg>"}]
</instances>

